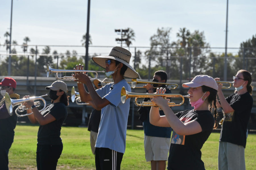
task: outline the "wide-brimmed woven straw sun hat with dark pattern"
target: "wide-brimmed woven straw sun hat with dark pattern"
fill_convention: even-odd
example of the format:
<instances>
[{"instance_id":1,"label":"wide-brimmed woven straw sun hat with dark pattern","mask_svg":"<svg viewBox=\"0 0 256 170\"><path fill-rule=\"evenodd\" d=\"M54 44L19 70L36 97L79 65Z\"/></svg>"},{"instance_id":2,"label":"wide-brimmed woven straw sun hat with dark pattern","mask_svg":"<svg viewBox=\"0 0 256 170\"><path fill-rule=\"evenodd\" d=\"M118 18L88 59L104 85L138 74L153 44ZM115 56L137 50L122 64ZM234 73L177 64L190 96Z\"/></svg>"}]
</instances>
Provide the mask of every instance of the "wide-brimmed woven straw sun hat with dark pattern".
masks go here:
<instances>
[{"instance_id":1,"label":"wide-brimmed woven straw sun hat with dark pattern","mask_svg":"<svg viewBox=\"0 0 256 170\"><path fill-rule=\"evenodd\" d=\"M109 55L100 55L97 57L92 57L92 60L97 63L99 66L106 68L106 59L112 59L119 61L127 66L127 70L125 71L124 76L128 78L138 78L137 72L134 68L129 64L131 59L130 51L122 48L122 47L113 47L110 51Z\"/></svg>"}]
</instances>

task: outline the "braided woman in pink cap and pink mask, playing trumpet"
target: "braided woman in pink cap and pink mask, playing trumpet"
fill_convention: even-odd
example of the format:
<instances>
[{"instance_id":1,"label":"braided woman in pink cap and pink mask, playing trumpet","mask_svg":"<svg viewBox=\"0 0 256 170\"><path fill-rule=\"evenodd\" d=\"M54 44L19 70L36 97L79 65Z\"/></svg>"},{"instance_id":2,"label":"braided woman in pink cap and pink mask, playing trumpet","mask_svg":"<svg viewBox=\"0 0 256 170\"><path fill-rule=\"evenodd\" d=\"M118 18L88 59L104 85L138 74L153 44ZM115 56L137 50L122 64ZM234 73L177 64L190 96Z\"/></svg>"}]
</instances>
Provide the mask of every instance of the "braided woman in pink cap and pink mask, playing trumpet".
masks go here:
<instances>
[{"instance_id":1,"label":"braided woman in pink cap and pink mask, playing trumpet","mask_svg":"<svg viewBox=\"0 0 256 170\"><path fill-rule=\"evenodd\" d=\"M208 139L216 123L216 95L218 85L207 75L198 75L191 82L183 83L188 90L189 102L193 110L180 111L176 114L168 106L168 100L155 97L151 101L157 106L150 110L150 123L155 126L172 127L173 134L168 157L168 170L205 170L201 160L201 148ZM156 94L162 94L165 89L157 89ZM214 117L211 113L214 102ZM210 106L210 108L209 108ZM159 115L159 107L164 116Z\"/></svg>"}]
</instances>

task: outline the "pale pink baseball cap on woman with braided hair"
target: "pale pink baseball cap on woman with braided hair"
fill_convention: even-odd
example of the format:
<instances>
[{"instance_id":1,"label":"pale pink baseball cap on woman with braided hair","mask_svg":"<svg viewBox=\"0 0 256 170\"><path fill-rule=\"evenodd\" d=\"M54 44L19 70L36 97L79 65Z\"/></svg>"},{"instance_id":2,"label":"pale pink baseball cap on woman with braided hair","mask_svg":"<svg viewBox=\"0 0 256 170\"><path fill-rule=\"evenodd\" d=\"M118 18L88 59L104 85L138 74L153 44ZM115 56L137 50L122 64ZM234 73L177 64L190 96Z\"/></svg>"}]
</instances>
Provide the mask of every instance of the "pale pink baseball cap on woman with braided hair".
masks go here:
<instances>
[{"instance_id":1,"label":"pale pink baseball cap on woman with braided hair","mask_svg":"<svg viewBox=\"0 0 256 170\"><path fill-rule=\"evenodd\" d=\"M218 85L216 81L207 75L198 75L195 76L191 82L183 83L182 87L200 87L200 86L211 87L212 89L218 90Z\"/></svg>"}]
</instances>

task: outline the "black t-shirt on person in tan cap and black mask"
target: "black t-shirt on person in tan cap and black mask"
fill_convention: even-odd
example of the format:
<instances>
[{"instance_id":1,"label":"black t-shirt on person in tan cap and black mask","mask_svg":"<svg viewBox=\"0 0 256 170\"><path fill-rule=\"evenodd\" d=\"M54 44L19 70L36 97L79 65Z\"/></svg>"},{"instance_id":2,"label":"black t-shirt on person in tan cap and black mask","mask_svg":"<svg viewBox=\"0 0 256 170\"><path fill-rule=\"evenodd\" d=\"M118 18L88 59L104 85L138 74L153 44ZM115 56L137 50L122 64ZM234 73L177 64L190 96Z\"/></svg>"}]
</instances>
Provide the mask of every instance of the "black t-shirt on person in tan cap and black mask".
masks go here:
<instances>
[{"instance_id":1,"label":"black t-shirt on person in tan cap and black mask","mask_svg":"<svg viewBox=\"0 0 256 170\"><path fill-rule=\"evenodd\" d=\"M49 104L42 111L42 115L47 113L53 115L56 120L46 125L40 125L37 134L38 145L60 145L62 144L60 134L61 126L67 117L67 107L62 102Z\"/></svg>"}]
</instances>

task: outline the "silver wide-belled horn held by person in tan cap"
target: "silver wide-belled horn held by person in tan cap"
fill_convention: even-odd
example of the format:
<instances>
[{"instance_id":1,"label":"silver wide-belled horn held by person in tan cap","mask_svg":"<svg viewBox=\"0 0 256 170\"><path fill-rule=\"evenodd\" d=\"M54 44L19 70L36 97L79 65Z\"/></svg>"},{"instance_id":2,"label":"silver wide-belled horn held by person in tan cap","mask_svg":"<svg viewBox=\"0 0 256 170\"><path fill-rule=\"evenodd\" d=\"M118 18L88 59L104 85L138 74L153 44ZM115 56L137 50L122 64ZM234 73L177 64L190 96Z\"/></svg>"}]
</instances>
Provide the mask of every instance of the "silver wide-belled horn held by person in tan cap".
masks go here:
<instances>
[{"instance_id":1,"label":"silver wide-belled horn held by person in tan cap","mask_svg":"<svg viewBox=\"0 0 256 170\"><path fill-rule=\"evenodd\" d=\"M9 94L5 93L5 105L6 105L7 111L8 111L10 116L13 115L13 107L15 107L17 105L20 105L15 110L15 113L18 117L23 117L23 116L31 115L33 112L32 113L27 113L27 114L24 114L24 115L19 115L18 112L23 112L24 110L30 109L30 108L26 108L26 106L22 105L22 103L28 102L28 101L31 101L31 100L42 100L44 102L44 107L43 107L43 109L39 110L39 112L41 112L46 107L46 101L42 97L47 96L47 95L48 94L45 94L45 95L42 95L42 96L39 96L39 97L33 96L33 97L30 97L30 98L27 98L27 99L11 99ZM40 101L34 102L34 105L36 107L39 107L40 106Z\"/></svg>"}]
</instances>

